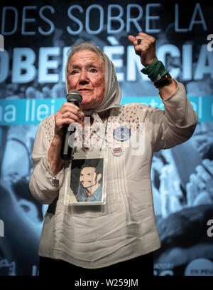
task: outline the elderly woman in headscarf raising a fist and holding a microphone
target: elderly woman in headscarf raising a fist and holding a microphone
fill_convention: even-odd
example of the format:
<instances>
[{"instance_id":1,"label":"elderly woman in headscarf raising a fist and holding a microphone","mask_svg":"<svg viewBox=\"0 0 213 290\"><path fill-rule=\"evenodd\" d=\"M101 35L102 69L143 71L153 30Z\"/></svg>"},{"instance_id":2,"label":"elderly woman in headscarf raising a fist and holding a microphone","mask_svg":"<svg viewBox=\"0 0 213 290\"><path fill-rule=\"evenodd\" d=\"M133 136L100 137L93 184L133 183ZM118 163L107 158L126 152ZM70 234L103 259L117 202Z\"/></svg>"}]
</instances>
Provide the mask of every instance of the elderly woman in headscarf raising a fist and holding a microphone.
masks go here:
<instances>
[{"instance_id":1,"label":"elderly woman in headscarf raising a fist and holding a microphone","mask_svg":"<svg viewBox=\"0 0 213 290\"><path fill-rule=\"evenodd\" d=\"M129 41L141 57L142 73L159 89L165 110L139 103L120 105L121 90L113 63L91 43L73 46L67 59L67 92L78 90L82 94L80 108L63 103L55 115L40 123L33 147L31 192L43 204L50 204L40 238L40 275L88 273L91 277L93 271L101 275L104 269L107 273L119 269L119 277L127 277L133 269L132 278L133 273L147 274L148 260L140 257L149 257L148 253L160 247L151 190L153 152L189 139L197 115L184 86L173 80L156 58L155 38L138 33L129 36ZM90 117L87 125L86 116ZM107 153L106 198L101 205L78 207L65 202L72 162L62 160L60 152L63 128L71 123L90 128L94 123L104 125L102 142L98 143L96 130L90 135L90 144L99 146L83 143L72 150L72 158L80 152ZM133 143L125 145L134 133L143 135L141 154L135 153ZM114 145L119 150L113 150ZM149 261L153 266L152 259Z\"/></svg>"}]
</instances>

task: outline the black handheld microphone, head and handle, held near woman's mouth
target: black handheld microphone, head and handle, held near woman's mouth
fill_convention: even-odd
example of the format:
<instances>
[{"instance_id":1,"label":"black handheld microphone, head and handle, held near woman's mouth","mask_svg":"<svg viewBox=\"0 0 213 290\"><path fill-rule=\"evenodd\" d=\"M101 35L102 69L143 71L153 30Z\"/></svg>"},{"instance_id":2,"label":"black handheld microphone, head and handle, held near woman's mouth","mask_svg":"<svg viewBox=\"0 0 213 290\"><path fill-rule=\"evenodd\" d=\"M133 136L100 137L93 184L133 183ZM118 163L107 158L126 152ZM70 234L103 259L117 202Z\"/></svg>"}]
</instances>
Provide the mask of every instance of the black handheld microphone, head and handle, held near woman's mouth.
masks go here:
<instances>
[{"instance_id":1,"label":"black handheld microphone, head and handle, held near woman's mouth","mask_svg":"<svg viewBox=\"0 0 213 290\"><path fill-rule=\"evenodd\" d=\"M69 93L67 93L67 102L72 103L74 105L77 105L77 107L80 106L80 103L82 101L82 94L78 90L70 90ZM70 160L72 155L72 147L68 144L68 139L71 134L75 134L76 128L73 128L74 130L69 130L70 125L65 125L63 130L63 138L62 138L62 148L61 148L61 157L62 160ZM74 140L74 136L72 138Z\"/></svg>"}]
</instances>

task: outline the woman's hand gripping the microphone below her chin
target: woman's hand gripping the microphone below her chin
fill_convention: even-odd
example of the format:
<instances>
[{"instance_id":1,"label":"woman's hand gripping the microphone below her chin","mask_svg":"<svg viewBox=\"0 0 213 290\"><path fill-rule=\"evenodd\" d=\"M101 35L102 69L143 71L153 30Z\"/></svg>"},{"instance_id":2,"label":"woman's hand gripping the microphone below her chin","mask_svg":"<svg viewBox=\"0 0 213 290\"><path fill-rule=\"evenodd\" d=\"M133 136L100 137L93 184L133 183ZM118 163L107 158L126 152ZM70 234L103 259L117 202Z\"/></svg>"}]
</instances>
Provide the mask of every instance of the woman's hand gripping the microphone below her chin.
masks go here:
<instances>
[{"instance_id":1,"label":"woman's hand gripping the microphone below her chin","mask_svg":"<svg viewBox=\"0 0 213 290\"><path fill-rule=\"evenodd\" d=\"M62 138L63 127L71 123L80 123L84 118L84 113L72 103L65 102L58 112L55 113L55 135Z\"/></svg>"}]
</instances>

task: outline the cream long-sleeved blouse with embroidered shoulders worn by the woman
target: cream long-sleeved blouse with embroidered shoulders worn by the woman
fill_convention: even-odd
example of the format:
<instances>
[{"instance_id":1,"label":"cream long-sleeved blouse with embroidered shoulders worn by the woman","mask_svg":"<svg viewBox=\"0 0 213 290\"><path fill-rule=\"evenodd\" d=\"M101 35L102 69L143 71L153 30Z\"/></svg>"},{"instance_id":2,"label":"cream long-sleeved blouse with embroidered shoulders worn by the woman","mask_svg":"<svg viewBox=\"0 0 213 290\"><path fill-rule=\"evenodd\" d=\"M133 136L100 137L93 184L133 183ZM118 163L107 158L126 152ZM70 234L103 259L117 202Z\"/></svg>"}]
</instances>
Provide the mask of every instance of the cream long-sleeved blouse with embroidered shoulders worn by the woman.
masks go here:
<instances>
[{"instance_id":1,"label":"cream long-sleeved blouse with embroidered shoulders worn by the woman","mask_svg":"<svg viewBox=\"0 0 213 290\"><path fill-rule=\"evenodd\" d=\"M139 103L110 109L104 135L104 150L108 155L107 203L97 207L65 205L65 176L70 165L65 164L58 175L53 176L47 152L54 135L54 115L40 123L30 180L33 196L43 204L50 204L40 238L40 256L92 269L132 259L160 247L151 189L153 152L185 142L197 124L197 114L181 83L163 103L165 110ZM131 137L120 143L123 154L115 156L111 148L117 142L113 133L119 125L130 128ZM139 147L129 142L134 133L142 136ZM99 139L97 133L91 134L93 144L99 143ZM81 150L84 148L75 149L74 154ZM54 182L55 179L58 182Z\"/></svg>"}]
</instances>

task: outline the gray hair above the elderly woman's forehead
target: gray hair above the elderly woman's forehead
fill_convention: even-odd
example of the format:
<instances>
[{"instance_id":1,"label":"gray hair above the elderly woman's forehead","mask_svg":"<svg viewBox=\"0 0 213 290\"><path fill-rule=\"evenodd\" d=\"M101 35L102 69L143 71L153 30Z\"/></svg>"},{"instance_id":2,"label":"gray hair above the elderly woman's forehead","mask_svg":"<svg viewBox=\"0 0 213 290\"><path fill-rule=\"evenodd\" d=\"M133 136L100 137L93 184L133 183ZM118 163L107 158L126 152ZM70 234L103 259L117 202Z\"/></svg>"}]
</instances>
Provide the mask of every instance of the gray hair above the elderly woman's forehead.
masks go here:
<instances>
[{"instance_id":1,"label":"gray hair above the elderly woman's forehead","mask_svg":"<svg viewBox=\"0 0 213 290\"><path fill-rule=\"evenodd\" d=\"M67 58L67 68L66 68L66 78L68 78L68 68L69 68L69 63L70 63L70 58L72 58L72 56L77 53L78 51L92 51L94 53L97 53L98 56L101 56L101 58L104 60L104 53L102 52L102 50L100 48L98 48L97 46L95 46L92 43L89 42L81 42L81 43L77 43L74 44L71 49L70 49L70 53L69 56ZM105 60L104 60L105 63Z\"/></svg>"}]
</instances>

